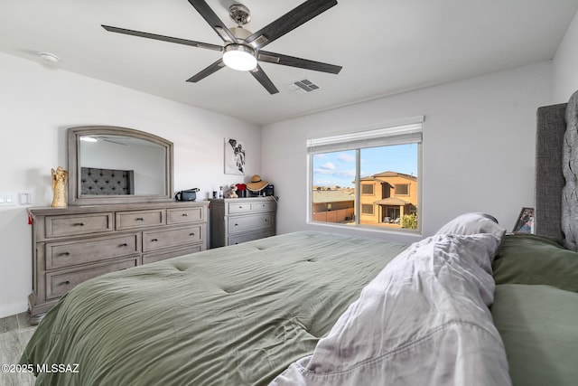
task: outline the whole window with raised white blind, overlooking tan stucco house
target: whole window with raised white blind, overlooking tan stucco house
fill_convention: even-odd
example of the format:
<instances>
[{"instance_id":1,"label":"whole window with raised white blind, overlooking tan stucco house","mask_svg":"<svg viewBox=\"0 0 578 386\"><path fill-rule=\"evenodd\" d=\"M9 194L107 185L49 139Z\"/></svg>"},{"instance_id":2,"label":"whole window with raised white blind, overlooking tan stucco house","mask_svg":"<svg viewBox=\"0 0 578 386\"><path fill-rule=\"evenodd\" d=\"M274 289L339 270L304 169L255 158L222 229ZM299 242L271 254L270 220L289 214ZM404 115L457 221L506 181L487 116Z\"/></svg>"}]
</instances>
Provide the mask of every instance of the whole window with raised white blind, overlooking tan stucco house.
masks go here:
<instances>
[{"instance_id":1,"label":"whole window with raised white blind, overlooking tan stucco house","mask_svg":"<svg viewBox=\"0 0 578 386\"><path fill-rule=\"evenodd\" d=\"M418 229L423 121L309 139L309 221Z\"/></svg>"}]
</instances>

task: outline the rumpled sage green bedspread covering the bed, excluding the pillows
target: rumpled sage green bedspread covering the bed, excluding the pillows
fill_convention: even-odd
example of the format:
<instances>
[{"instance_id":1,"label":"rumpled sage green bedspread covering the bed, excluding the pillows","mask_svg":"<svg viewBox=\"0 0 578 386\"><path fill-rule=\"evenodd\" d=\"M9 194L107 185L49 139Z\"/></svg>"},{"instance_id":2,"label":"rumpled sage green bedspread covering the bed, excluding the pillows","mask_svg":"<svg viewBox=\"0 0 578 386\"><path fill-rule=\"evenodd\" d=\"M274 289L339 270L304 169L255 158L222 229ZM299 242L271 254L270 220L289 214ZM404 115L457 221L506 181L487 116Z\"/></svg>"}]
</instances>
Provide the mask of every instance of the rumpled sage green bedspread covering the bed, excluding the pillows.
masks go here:
<instances>
[{"instance_id":1,"label":"rumpled sage green bedspread covering the bed, excluding the pillows","mask_svg":"<svg viewBox=\"0 0 578 386\"><path fill-rule=\"evenodd\" d=\"M94 278L44 317L21 362L78 363L40 385L266 384L403 249L297 232Z\"/></svg>"}]
</instances>

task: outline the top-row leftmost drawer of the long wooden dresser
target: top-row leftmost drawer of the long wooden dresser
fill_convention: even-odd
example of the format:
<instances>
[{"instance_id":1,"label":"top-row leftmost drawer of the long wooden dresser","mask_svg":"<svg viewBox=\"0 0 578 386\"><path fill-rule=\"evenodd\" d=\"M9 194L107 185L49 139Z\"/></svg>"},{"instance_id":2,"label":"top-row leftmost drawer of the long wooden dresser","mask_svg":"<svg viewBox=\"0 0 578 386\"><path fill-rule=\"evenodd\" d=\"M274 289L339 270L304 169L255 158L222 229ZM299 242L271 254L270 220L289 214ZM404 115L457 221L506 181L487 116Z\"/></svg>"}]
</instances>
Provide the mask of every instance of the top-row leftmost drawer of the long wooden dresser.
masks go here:
<instances>
[{"instance_id":1,"label":"top-row leftmost drawer of the long wooden dresser","mask_svg":"<svg viewBox=\"0 0 578 386\"><path fill-rule=\"evenodd\" d=\"M46 216L46 238L75 236L113 230L112 212Z\"/></svg>"}]
</instances>

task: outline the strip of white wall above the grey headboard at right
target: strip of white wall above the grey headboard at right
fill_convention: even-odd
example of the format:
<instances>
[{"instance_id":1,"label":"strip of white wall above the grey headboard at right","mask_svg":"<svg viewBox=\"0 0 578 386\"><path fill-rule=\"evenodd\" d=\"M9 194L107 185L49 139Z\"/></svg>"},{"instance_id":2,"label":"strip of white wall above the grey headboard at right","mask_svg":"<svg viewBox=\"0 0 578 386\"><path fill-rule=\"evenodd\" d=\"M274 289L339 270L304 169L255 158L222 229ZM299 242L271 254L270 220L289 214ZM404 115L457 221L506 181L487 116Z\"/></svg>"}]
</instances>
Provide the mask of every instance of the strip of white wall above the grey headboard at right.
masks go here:
<instances>
[{"instance_id":1,"label":"strip of white wall above the grey headboard at right","mask_svg":"<svg viewBox=\"0 0 578 386\"><path fill-rule=\"evenodd\" d=\"M565 103L578 90L578 14L554 57L555 103Z\"/></svg>"}]
</instances>

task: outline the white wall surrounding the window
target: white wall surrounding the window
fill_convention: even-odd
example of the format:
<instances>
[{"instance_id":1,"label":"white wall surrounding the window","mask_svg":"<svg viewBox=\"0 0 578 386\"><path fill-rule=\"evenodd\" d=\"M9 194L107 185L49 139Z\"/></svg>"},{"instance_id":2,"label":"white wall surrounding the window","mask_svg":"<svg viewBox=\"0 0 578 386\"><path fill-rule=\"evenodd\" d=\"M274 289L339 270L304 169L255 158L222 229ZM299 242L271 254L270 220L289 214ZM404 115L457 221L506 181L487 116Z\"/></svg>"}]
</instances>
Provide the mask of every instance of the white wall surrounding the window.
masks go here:
<instances>
[{"instance_id":1,"label":"white wall surrounding the window","mask_svg":"<svg viewBox=\"0 0 578 386\"><path fill-rule=\"evenodd\" d=\"M520 209L534 206L536 108L551 100L552 62L545 61L267 125L262 170L280 196L278 231L337 231L306 224L307 136L419 115L425 116L423 235L462 212L489 212L511 230Z\"/></svg>"}]
</instances>

